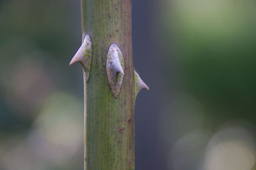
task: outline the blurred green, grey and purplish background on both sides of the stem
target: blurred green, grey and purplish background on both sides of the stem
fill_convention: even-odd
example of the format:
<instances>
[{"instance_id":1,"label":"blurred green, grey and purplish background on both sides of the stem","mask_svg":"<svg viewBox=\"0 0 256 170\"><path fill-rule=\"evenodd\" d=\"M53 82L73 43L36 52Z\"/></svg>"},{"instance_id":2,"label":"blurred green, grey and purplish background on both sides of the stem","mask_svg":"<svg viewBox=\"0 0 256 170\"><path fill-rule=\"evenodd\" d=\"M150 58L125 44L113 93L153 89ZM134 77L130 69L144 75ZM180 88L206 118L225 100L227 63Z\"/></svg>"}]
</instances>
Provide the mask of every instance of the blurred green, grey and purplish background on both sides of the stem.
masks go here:
<instances>
[{"instance_id":1,"label":"blurred green, grey and purplish background on both sides of the stem","mask_svg":"<svg viewBox=\"0 0 256 170\"><path fill-rule=\"evenodd\" d=\"M0 0L0 169L83 169L80 2ZM138 170L256 169L256 2L132 2Z\"/></svg>"}]
</instances>

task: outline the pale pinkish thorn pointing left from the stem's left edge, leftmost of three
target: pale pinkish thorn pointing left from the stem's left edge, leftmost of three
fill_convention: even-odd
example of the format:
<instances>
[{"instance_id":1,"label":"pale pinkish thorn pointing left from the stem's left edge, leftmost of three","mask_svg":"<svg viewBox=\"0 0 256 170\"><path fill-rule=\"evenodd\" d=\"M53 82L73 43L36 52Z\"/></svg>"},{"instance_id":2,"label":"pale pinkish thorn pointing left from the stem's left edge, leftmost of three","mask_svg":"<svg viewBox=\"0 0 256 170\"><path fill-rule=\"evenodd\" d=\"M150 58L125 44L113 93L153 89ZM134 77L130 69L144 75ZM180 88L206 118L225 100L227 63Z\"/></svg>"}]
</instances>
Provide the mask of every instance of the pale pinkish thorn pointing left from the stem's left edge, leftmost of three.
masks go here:
<instances>
[{"instance_id":1,"label":"pale pinkish thorn pointing left from the stem's left edge, leftmost of three","mask_svg":"<svg viewBox=\"0 0 256 170\"><path fill-rule=\"evenodd\" d=\"M92 60L92 42L89 35L86 35L80 48L69 63L69 66L76 62L80 62L86 73L86 80L88 81Z\"/></svg>"}]
</instances>

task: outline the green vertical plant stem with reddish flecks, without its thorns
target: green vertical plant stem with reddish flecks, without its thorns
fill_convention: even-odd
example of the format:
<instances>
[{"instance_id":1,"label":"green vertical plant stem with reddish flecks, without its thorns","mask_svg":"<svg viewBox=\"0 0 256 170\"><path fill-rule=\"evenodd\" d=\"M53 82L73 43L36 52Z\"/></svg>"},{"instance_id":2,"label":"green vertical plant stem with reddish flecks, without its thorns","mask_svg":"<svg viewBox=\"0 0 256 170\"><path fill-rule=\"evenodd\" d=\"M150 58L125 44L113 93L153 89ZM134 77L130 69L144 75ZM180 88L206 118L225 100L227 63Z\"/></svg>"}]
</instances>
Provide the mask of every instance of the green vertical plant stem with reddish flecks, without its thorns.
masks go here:
<instances>
[{"instance_id":1,"label":"green vertical plant stem with reddish flecks, without its thorns","mask_svg":"<svg viewBox=\"0 0 256 170\"><path fill-rule=\"evenodd\" d=\"M81 11L83 39L89 34L92 41L90 75L84 74L84 169L134 169L131 0L81 0ZM106 72L111 43L124 57L117 98Z\"/></svg>"}]
</instances>

